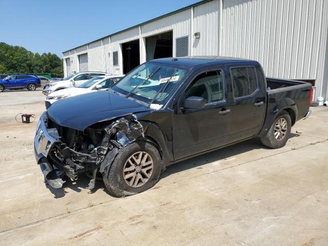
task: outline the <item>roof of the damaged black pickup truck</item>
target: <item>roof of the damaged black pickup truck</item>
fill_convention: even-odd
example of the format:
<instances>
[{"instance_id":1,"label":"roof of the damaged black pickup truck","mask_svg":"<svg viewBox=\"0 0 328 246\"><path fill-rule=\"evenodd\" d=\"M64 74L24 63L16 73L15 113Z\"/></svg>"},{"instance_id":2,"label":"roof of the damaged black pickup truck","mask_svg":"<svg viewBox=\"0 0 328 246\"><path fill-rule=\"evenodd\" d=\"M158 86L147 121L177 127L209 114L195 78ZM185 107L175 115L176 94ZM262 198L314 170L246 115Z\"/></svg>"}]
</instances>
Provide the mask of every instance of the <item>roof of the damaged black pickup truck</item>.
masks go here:
<instances>
[{"instance_id":1,"label":"roof of the damaged black pickup truck","mask_svg":"<svg viewBox=\"0 0 328 246\"><path fill-rule=\"evenodd\" d=\"M154 63L165 63L177 66L187 66L187 67L202 67L215 64L254 64L258 65L258 61L244 59L244 58L235 58L227 56L182 56L182 57L171 57L171 58L160 58L151 60Z\"/></svg>"}]
</instances>

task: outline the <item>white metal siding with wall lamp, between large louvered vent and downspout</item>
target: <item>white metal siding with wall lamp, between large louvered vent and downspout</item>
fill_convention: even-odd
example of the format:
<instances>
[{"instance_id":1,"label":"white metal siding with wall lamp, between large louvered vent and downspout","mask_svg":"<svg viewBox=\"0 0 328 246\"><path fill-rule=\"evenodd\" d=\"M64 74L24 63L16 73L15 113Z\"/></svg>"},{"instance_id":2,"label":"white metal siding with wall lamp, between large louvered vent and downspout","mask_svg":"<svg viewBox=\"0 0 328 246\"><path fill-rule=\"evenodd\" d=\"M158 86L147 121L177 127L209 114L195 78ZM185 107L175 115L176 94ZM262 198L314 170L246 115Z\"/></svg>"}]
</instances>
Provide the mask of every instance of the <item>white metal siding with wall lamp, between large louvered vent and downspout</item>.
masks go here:
<instances>
[{"instance_id":1,"label":"white metal siding with wall lamp, between large louvered vent and downspout","mask_svg":"<svg viewBox=\"0 0 328 246\"><path fill-rule=\"evenodd\" d=\"M219 1L194 7L192 35L193 55L218 55ZM199 32L200 38L193 34Z\"/></svg>"}]
</instances>

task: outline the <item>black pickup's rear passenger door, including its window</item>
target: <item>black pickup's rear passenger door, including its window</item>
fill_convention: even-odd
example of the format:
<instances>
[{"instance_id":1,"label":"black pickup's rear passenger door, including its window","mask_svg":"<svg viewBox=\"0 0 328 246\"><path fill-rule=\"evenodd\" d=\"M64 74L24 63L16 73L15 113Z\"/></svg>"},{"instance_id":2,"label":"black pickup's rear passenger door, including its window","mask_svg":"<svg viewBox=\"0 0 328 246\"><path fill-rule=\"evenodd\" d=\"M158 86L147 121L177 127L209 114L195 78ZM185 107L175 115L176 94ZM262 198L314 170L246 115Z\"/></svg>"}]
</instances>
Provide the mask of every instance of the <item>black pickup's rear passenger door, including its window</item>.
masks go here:
<instances>
[{"instance_id":1,"label":"black pickup's rear passenger door, including its window","mask_svg":"<svg viewBox=\"0 0 328 246\"><path fill-rule=\"evenodd\" d=\"M265 84L260 68L231 67L234 104L231 110L232 142L255 136L261 129L266 106Z\"/></svg>"}]
</instances>

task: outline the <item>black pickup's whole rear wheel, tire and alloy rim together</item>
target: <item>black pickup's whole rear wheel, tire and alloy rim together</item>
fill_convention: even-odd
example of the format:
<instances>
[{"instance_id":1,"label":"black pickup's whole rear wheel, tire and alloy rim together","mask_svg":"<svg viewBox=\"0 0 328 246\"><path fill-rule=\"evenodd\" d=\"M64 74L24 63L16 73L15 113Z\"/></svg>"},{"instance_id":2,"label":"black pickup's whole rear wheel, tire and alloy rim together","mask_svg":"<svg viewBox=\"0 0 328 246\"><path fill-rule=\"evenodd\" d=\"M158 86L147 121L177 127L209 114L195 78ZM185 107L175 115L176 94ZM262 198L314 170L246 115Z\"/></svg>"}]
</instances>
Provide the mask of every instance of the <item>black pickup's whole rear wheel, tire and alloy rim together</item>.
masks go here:
<instances>
[{"instance_id":1,"label":"black pickup's whole rear wheel, tire and alloy rim together","mask_svg":"<svg viewBox=\"0 0 328 246\"><path fill-rule=\"evenodd\" d=\"M263 145L278 149L284 147L289 138L292 129L291 116L286 111L281 111L267 134L261 137Z\"/></svg>"}]
</instances>

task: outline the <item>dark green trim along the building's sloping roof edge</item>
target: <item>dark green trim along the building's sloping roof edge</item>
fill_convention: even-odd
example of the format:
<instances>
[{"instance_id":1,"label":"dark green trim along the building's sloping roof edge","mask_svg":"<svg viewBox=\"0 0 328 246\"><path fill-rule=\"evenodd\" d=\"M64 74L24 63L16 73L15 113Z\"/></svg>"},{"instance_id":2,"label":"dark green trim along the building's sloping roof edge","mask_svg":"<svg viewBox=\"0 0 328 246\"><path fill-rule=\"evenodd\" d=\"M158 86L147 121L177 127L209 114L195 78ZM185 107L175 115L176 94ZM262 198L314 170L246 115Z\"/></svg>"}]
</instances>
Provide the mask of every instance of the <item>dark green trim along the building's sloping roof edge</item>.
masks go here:
<instances>
[{"instance_id":1,"label":"dark green trim along the building's sloping roof edge","mask_svg":"<svg viewBox=\"0 0 328 246\"><path fill-rule=\"evenodd\" d=\"M86 43L86 44L84 44L84 45L80 45L80 46L77 46L77 47L75 47L75 48L73 48L73 49L69 49L69 50L63 51L63 54L64 54L65 52L68 52L68 51L71 51L71 50L77 49L77 48L79 48L79 47L83 47L83 46L85 46L85 45L89 45L89 44L95 43L95 42L97 42L97 41L99 41L99 40L101 40L101 39L104 39L104 38L106 38L106 37L114 36L114 35L116 35L116 34L119 34L119 33L122 33L122 32L129 31L129 30L131 30L131 29L134 29L134 28L137 28L137 27L140 27L140 26L146 25L146 24L148 24L148 23L154 22L155 20L158 20L158 19L161 19L161 18L165 18L165 17L167 17L167 16L170 16L170 15L173 15L173 14L176 14L176 13L179 13L179 12L182 12L182 11L185 11L186 9L190 9L190 8L192 8L192 7L196 7L196 6L199 6L199 5L202 5L202 4L206 4L206 3L208 3L208 2L212 2L212 1L215 1L215 0L202 0L202 1L200 1L200 2L197 2L197 3L194 3L194 4L188 5L188 6L186 6L186 7L183 7L183 8L181 8L181 9L178 9L178 10L175 10L175 11L169 12L169 13L167 13L167 14L160 15L160 16L155 17L155 18L153 18L153 19L147 20L146 22L142 22L142 23L140 23L140 24L137 24L137 25L135 25L135 26L132 26L132 27L126 28L126 29L124 29L124 30L121 30L121 31L118 31L118 32L114 32L114 33L109 34L109 35L107 35L107 36L105 36L105 37L100 37L100 38L98 38L98 39L96 39L96 40L94 40L94 41L92 41L92 42Z\"/></svg>"}]
</instances>

